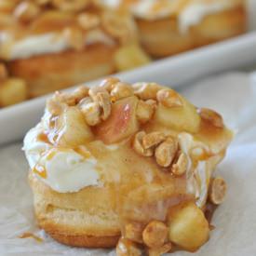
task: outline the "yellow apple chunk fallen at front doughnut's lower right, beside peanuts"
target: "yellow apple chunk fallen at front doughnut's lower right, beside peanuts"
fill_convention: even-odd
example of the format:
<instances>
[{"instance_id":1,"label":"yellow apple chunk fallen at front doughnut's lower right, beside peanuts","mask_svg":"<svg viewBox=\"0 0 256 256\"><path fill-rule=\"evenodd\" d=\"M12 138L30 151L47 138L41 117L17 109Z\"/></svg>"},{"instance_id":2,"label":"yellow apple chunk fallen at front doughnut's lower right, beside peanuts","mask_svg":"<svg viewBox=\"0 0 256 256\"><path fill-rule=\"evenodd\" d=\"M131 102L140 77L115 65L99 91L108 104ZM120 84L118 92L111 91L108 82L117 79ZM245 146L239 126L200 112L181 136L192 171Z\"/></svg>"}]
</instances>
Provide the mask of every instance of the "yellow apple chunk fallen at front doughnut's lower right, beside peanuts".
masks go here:
<instances>
[{"instance_id":1,"label":"yellow apple chunk fallen at front doughnut's lower right, beside peanuts","mask_svg":"<svg viewBox=\"0 0 256 256\"><path fill-rule=\"evenodd\" d=\"M195 251L208 241L209 222L195 203L171 209L168 218L168 238L183 249Z\"/></svg>"}]
</instances>

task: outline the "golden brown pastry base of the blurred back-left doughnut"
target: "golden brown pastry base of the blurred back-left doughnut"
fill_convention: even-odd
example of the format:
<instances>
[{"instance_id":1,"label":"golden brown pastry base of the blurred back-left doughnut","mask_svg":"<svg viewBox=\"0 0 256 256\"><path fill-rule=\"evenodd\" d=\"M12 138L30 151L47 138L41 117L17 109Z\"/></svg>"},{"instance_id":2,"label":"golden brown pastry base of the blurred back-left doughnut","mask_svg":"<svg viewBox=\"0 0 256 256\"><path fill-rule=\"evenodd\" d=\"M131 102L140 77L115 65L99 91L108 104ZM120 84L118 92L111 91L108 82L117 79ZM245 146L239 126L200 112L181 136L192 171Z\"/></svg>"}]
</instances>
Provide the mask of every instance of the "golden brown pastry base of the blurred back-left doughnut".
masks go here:
<instances>
[{"instance_id":1,"label":"golden brown pastry base of the blurred back-left doughnut","mask_svg":"<svg viewBox=\"0 0 256 256\"><path fill-rule=\"evenodd\" d=\"M27 81L29 96L34 98L114 73L114 53L115 47L95 44L80 51L11 61L9 72Z\"/></svg>"}]
</instances>

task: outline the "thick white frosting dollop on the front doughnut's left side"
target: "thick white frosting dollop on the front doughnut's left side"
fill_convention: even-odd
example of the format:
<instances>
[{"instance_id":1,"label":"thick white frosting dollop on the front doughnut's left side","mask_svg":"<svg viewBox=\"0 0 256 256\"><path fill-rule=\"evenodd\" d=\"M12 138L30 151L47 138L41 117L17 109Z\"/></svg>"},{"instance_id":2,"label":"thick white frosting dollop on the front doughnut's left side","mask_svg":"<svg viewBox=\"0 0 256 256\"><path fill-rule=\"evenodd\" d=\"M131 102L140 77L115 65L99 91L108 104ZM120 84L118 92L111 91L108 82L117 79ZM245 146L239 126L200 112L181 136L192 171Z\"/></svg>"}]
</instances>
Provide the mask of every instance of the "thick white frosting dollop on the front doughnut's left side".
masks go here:
<instances>
[{"instance_id":1,"label":"thick white frosting dollop on the front doughnut's left side","mask_svg":"<svg viewBox=\"0 0 256 256\"><path fill-rule=\"evenodd\" d=\"M60 193L77 192L90 185L99 185L97 160L92 155L85 157L73 149L61 150L47 142L38 141L37 136L42 130L41 124L32 128L23 146L30 168L39 166L46 171L46 178L34 172L38 179Z\"/></svg>"}]
</instances>

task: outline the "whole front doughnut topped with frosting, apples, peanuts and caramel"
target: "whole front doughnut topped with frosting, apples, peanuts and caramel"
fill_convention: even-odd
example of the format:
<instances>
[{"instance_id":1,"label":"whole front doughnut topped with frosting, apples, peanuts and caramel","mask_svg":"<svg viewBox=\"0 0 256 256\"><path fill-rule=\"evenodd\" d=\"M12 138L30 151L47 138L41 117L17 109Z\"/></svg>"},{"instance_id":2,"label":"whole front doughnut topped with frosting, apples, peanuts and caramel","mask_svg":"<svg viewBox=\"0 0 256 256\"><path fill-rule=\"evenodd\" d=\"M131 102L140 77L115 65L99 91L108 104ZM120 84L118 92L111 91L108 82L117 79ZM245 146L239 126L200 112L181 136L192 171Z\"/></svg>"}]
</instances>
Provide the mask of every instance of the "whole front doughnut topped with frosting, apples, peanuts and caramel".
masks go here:
<instances>
[{"instance_id":1,"label":"whole front doughnut topped with frosting, apples, peanuts and caramel","mask_svg":"<svg viewBox=\"0 0 256 256\"><path fill-rule=\"evenodd\" d=\"M56 92L24 139L37 222L117 255L195 251L226 192L214 169L232 138L221 115L155 83Z\"/></svg>"}]
</instances>

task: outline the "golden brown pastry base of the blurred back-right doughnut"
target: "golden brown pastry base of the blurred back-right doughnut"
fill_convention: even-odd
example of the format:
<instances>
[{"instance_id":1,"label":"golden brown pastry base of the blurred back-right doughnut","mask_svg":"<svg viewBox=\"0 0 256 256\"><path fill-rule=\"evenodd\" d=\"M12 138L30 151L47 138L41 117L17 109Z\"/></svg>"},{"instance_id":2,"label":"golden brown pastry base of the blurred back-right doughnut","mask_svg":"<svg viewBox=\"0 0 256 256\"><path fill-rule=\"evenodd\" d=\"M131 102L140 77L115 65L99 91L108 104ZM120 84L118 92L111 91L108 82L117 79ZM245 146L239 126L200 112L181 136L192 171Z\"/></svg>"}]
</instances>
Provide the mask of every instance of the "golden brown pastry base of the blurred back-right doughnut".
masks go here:
<instances>
[{"instance_id":1,"label":"golden brown pastry base of the blurred back-right doughnut","mask_svg":"<svg viewBox=\"0 0 256 256\"><path fill-rule=\"evenodd\" d=\"M143 47L159 58L245 33L247 14L243 6L211 14L185 34L175 18L138 20L138 26Z\"/></svg>"}]
</instances>

